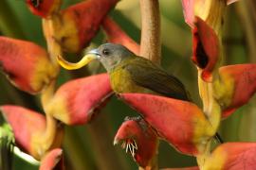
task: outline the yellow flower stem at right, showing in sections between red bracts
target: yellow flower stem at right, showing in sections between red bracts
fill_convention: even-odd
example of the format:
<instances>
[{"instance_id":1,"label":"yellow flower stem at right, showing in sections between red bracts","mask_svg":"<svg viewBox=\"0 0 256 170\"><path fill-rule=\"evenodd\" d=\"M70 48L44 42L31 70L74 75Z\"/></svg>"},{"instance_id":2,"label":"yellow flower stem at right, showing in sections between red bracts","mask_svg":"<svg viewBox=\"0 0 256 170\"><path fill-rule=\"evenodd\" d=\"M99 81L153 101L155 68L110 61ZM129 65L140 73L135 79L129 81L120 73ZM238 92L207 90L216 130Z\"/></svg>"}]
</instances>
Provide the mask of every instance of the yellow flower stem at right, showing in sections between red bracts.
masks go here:
<instances>
[{"instance_id":1,"label":"yellow flower stem at right, showing in sections between red bracts","mask_svg":"<svg viewBox=\"0 0 256 170\"><path fill-rule=\"evenodd\" d=\"M209 120L210 126L212 128L210 131L210 136L214 136L217 132L217 129L220 125L221 121L221 106L216 99L216 95L219 93L214 84L221 84L222 81L219 77L219 67L221 65L223 55L223 44L222 44L222 22L223 16L226 10L226 1L207 1L209 4L206 3L204 10L194 9L194 14L198 17L202 18L204 22L210 26L215 32L218 37L218 60L214 65L214 69L211 71L212 80L211 82L205 81L202 75L202 69L198 68L198 89L200 93L200 97L203 103L203 111L206 117ZM196 7L196 5L194 5ZM209 6L209 8L207 8ZM194 8L194 7L193 7ZM203 12L202 12L203 11ZM204 32L205 34L205 32ZM211 142L208 141L207 144L200 144L199 154L196 156L198 166L200 169L204 167L204 163L210 157L210 146Z\"/></svg>"}]
</instances>

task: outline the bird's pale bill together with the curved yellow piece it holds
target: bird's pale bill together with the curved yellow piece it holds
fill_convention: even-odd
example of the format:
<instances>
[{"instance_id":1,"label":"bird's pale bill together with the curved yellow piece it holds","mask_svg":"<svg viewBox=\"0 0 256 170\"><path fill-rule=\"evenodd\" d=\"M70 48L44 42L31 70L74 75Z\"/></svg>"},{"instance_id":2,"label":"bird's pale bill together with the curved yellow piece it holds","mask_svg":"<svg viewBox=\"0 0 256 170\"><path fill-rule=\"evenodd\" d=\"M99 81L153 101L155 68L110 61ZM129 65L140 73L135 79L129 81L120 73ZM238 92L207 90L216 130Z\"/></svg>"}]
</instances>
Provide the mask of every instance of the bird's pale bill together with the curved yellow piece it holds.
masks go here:
<instances>
[{"instance_id":1,"label":"bird's pale bill together with the curved yellow piece it holds","mask_svg":"<svg viewBox=\"0 0 256 170\"><path fill-rule=\"evenodd\" d=\"M83 58L77 63L72 63L65 60L62 56L58 56L57 60L60 65L62 65L67 70L76 70L80 69L82 66L88 64L93 59L100 59L101 55L97 49L89 51Z\"/></svg>"}]
</instances>

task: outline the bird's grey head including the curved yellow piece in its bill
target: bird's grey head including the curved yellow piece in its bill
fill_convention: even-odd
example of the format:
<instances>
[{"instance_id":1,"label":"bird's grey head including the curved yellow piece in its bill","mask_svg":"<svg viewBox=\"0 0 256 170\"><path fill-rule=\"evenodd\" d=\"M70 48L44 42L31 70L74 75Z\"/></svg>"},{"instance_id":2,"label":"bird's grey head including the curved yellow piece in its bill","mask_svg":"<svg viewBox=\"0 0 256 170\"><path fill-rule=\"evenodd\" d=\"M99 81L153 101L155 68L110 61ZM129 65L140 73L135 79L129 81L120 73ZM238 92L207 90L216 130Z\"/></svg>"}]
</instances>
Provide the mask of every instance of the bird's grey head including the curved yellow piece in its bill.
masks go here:
<instances>
[{"instance_id":1,"label":"bird's grey head including the curved yellow piece in its bill","mask_svg":"<svg viewBox=\"0 0 256 170\"><path fill-rule=\"evenodd\" d=\"M97 49L93 49L85 54L85 56L77 63L71 63L64 60L61 56L58 57L58 62L68 70L79 69L88 64L93 59L99 59L104 68L109 72L115 68L119 63L134 54L126 47L115 43L101 44Z\"/></svg>"}]
</instances>

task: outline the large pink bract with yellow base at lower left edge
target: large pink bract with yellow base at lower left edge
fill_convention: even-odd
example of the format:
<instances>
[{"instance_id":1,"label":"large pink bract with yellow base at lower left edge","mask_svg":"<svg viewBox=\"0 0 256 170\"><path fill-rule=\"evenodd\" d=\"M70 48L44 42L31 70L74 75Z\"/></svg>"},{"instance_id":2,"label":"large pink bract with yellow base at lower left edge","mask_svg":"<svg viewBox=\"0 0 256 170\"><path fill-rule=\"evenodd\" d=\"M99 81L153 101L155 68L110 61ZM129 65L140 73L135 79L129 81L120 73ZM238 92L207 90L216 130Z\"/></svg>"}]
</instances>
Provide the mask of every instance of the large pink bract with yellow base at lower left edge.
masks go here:
<instances>
[{"instance_id":1,"label":"large pink bract with yellow base at lower left edge","mask_svg":"<svg viewBox=\"0 0 256 170\"><path fill-rule=\"evenodd\" d=\"M46 117L39 112L12 105L1 106L0 110L12 128L15 143L27 154L37 160L41 160L44 153L51 149L51 147L44 148L42 145L36 144L36 142L42 140L41 138L44 138ZM59 147L62 138L63 130L60 128L58 129L58 135L51 141L52 144L48 145ZM46 150L42 150L43 148Z\"/></svg>"}]
</instances>

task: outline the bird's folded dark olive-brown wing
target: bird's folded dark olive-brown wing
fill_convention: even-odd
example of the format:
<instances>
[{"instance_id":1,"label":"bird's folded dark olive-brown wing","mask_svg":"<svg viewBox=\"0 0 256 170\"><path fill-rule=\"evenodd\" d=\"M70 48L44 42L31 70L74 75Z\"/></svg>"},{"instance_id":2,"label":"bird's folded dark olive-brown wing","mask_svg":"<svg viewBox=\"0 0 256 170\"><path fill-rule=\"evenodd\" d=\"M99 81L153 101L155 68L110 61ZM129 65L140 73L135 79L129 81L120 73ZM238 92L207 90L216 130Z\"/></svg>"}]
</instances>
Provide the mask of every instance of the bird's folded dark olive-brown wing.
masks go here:
<instances>
[{"instance_id":1,"label":"bird's folded dark olive-brown wing","mask_svg":"<svg viewBox=\"0 0 256 170\"><path fill-rule=\"evenodd\" d=\"M184 85L175 77L148 59L141 57L130 60L126 69L138 86L150 89L164 96L190 101L190 95Z\"/></svg>"}]
</instances>

